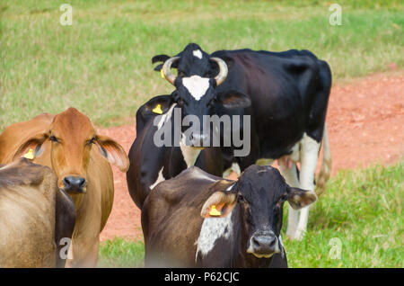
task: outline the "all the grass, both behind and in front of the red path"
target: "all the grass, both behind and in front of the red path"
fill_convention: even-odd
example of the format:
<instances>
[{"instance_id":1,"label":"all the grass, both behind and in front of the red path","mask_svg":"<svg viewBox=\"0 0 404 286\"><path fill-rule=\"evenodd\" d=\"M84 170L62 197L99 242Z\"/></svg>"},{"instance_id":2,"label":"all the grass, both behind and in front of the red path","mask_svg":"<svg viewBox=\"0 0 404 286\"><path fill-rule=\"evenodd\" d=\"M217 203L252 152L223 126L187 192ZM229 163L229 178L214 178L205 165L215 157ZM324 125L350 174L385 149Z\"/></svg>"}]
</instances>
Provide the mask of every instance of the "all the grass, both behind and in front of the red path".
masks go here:
<instances>
[{"instance_id":1,"label":"all the grass, both behind and in front of the red path","mask_svg":"<svg viewBox=\"0 0 404 286\"><path fill-rule=\"evenodd\" d=\"M61 4L73 7L63 26ZM133 124L137 108L172 86L151 58L189 42L217 49L310 49L334 82L404 66L404 2L2 0L0 131L74 106L100 127ZM303 241L287 240L291 267L403 267L403 164L340 172L312 207ZM287 208L285 208L287 209ZM286 217L286 215L285 215ZM332 239L337 238L337 239ZM340 242L340 259L331 259ZM333 248L334 247L334 248ZM331 255L329 255L331 251ZM142 242L101 244L101 267L141 267Z\"/></svg>"}]
</instances>

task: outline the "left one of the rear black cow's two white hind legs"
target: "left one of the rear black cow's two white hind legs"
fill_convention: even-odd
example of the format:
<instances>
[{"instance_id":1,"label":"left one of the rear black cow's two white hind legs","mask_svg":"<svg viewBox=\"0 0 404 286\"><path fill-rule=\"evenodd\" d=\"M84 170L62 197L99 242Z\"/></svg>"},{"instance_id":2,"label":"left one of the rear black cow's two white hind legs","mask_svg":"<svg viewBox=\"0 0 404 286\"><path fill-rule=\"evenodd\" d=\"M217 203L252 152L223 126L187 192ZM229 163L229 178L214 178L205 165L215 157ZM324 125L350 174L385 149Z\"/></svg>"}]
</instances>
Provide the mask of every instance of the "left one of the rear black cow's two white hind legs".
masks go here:
<instances>
[{"instance_id":1,"label":"left one of the rear black cow's two white hind legs","mask_svg":"<svg viewBox=\"0 0 404 286\"><path fill-rule=\"evenodd\" d=\"M284 176L285 181L288 185L294 188L298 188L300 186L299 179L297 177L297 166L293 163L292 166L288 165L285 160L279 160L279 170L280 173ZM289 212L287 216L287 230L286 236L294 237L294 234L297 229L297 224L299 222L299 210L294 210L289 205Z\"/></svg>"}]
</instances>

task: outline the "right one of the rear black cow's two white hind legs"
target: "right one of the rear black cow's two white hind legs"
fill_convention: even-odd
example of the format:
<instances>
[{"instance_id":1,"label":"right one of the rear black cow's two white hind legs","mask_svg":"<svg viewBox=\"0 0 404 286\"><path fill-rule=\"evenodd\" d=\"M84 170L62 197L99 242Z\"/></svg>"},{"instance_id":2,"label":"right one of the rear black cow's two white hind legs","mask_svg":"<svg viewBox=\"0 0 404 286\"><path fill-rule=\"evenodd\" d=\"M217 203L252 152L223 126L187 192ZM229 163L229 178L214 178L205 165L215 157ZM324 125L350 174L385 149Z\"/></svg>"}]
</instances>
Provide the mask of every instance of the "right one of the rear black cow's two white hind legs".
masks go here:
<instances>
[{"instance_id":1,"label":"right one of the rear black cow's two white hind legs","mask_svg":"<svg viewBox=\"0 0 404 286\"><path fill-rule=\"evenodd\" d=\"M314 173L319 158L320 146L321 142L317 142L315 139L304 134L302 139L301 172L299 180L300 188L303 190L314 191ZM305 207L300 210L299 223L293 237L295 239L302 239L303 234L306 232L309 208L310 207Z\"/></svg>"}]
</instances>

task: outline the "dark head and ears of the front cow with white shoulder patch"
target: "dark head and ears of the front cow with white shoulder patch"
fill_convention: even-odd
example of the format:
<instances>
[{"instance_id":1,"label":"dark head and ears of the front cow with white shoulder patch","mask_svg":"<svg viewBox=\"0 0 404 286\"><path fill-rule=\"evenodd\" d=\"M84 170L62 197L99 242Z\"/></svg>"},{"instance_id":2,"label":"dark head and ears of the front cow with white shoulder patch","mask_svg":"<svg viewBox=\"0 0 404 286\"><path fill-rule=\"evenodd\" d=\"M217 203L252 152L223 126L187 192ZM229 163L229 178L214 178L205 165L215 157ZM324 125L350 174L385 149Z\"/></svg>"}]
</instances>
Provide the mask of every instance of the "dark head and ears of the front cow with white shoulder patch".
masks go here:
<instances>
[{"instance_id":1,"label":"dark head and ears of the front cow with white shoulder patch","mask_svg":"<svg viewBox=\"0 0 404 286\"><path fill-rule=\"evenodd\" d=\"M201 216L224 217L239 208L242 228L245 229L246 251L256 257L271 257L281 252L279 238L282 228L283 206L288 201L299 210L317 200L312 191L292 188L271 166L251 165L228 192L214 192L205 202ZM212 212L215 205L216 214Z\"/></svg>"}]
</instances>

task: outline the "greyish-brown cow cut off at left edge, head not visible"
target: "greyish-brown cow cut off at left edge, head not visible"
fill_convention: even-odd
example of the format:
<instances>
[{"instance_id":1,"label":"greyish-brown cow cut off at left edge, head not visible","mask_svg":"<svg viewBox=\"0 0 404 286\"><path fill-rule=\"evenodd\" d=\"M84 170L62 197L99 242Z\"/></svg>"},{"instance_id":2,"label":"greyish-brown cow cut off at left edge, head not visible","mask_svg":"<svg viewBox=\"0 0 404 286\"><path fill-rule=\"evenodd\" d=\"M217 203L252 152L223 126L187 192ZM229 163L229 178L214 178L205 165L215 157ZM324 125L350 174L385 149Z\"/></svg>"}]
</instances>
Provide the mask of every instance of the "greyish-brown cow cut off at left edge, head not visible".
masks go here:
<instances>
[{"instance_id":1,"label":"greyish-brown cow cut off at left edge, head not visible","mask_svg":"<svg viewBox=\"0 0 404 286\"><path fill-rule=\"evenodd\" d=\"M64 267L74 227L75 204L50 168L0 165L0 267Z\"/></svg>"}]
</instances>

